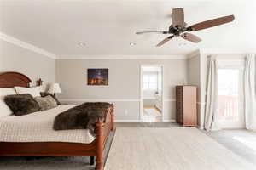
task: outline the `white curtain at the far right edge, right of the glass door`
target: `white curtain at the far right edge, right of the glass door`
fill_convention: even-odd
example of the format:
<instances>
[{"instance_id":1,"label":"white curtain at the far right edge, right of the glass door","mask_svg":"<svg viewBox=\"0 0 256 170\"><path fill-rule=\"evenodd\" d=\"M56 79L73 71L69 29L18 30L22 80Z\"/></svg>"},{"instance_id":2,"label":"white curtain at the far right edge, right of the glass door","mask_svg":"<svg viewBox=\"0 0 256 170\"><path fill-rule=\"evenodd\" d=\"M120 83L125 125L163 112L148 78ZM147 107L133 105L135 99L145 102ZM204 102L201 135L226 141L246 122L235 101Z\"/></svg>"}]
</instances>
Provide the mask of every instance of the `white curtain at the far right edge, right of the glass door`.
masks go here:
<instances>
[{"instance_id":1,"label":"white curtain at the far right edge, right of the glass door","mask_svg":"<svg viewBox=\"0 0 256 170\"><path fill-rule=\"evenodd\" d=\"M256 130L256 96L255 96L255 55L246 57L244 70L244 109L246 128Z\"/></svg>"}]
</instances>

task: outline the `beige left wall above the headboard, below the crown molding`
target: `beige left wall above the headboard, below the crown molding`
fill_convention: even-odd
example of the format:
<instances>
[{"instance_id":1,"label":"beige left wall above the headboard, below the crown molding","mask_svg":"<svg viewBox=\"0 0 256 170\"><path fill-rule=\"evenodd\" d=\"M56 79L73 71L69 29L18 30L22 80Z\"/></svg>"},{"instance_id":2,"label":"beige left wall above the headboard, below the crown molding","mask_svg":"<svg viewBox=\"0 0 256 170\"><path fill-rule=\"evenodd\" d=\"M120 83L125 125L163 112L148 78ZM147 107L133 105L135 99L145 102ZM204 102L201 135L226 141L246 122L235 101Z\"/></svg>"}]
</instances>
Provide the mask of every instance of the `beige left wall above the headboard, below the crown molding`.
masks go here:
<instances>
[{"instance_id":1,"label":"beige left wall above the headboard, below the crown molding","mask_svg":"<svg viewBox=\"0 0 256 170\"><path fill-rule=\"evenodd\" d=\"M0 40L0 72L3 71L23 73L32 79L32 85L39 77L44 84L55 82L55 59Z\"/></svg>"}]
</instances>

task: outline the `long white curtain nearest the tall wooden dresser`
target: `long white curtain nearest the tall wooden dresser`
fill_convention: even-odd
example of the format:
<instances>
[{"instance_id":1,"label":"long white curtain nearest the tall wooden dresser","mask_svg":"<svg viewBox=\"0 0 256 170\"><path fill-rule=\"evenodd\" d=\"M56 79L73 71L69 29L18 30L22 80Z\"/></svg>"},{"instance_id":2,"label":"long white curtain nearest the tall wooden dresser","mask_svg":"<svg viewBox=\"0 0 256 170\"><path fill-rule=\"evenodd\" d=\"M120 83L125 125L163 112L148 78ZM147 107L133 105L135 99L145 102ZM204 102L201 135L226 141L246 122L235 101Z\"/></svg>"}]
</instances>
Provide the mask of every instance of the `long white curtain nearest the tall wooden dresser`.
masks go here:
<instances>
[{"instance_id":1,"label":"long white curtain nearest the tall wooden dresser","mask_svg":"<svg viewBox=\"0 0 256 170\"><path fill-rule=\"evenodd\" d=\"M208 66L205 129L218 130L218 65L214 56L210 57Z\"/></svg>"}]
</instances>

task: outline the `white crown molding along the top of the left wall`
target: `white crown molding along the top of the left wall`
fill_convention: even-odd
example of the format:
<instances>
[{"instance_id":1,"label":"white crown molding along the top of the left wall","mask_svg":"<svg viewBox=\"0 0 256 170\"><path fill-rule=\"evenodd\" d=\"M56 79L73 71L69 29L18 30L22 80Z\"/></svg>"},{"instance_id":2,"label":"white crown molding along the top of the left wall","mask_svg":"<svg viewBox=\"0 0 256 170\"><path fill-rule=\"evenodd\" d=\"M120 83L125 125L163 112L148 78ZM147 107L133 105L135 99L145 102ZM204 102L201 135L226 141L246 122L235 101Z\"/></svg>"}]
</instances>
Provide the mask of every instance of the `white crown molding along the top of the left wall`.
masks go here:
<instances>
[{"instance_id":1,"label":"white crown molding along the top of the left wall","mask_svg":"<svg viewBox=\"0 0 256 170\"><path fill-rule=\"evenodd\" d=\"M4 34L3 32L0 32L0 39L5 41L5 42L15 44L16 46L20 46L21 48L26 48L28 50L31 50L31 51L33 51L37 54L42 54L42 55L44 55L46 57L49 57L51 59L56 59L55 54L49 53L48 51L45 51L42 48L38 48L38 47L32 45L31 43L23 42L23 41L15 38L15 37L11 37L7 34Z\"/></svg>"}]
</instances>

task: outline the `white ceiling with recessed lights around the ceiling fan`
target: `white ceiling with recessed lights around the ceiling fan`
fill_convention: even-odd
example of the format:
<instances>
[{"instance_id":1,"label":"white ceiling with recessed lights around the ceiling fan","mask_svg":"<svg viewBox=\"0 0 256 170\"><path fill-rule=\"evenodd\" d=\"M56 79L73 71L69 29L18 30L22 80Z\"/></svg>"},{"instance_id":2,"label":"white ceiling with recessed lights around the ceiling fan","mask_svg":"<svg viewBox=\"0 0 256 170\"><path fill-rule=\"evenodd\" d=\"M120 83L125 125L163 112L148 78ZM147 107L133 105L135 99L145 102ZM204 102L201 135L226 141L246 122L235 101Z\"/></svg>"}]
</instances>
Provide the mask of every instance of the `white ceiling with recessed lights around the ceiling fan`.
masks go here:
<instances>
[{"instance_id":1,"label":"white ceiling with recessed lights around the ceiling fan","mask_svg":"<svg viewBox=\"0 0 256 170\"><path fill-rule=\"evenodd\" d=\"M189 25L230 14L236 19L196 31L203 40L198 44L177 37L157 48L166 35L135 34L166 31L172 8L177 7L184 8ZM0 0L0 31L59 57L174 55L198 48L244 50L256 48L255 8L253 0Z\"/></svg>"}]
</instances>

